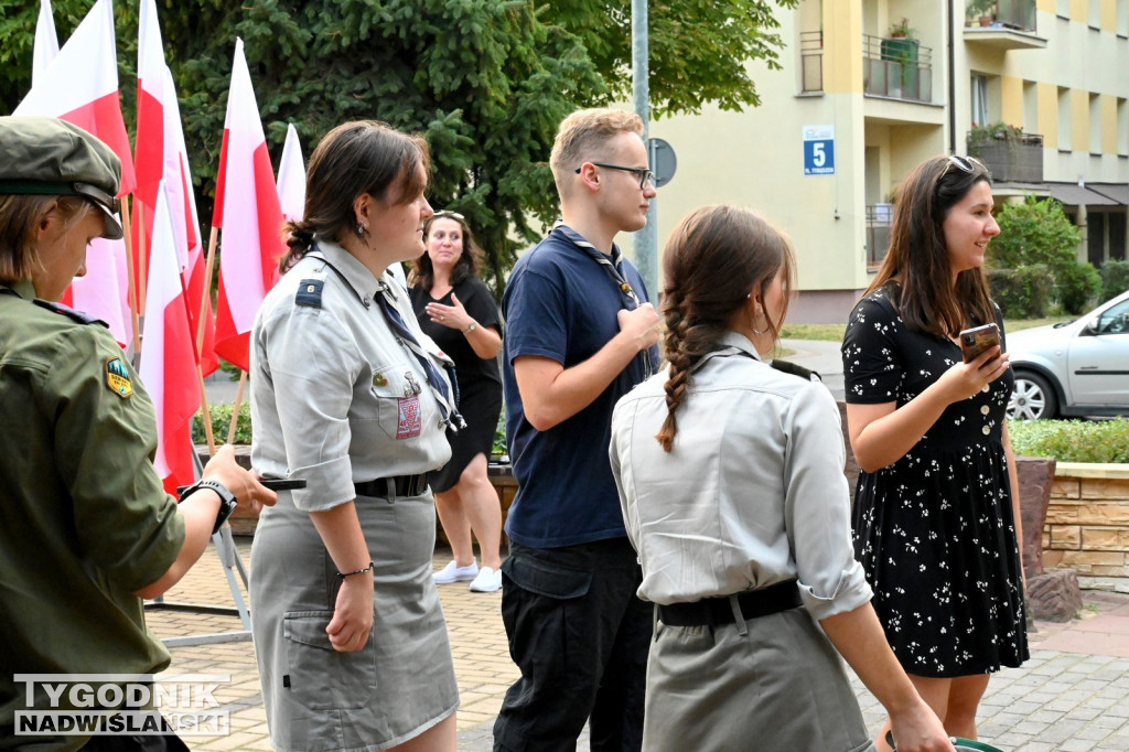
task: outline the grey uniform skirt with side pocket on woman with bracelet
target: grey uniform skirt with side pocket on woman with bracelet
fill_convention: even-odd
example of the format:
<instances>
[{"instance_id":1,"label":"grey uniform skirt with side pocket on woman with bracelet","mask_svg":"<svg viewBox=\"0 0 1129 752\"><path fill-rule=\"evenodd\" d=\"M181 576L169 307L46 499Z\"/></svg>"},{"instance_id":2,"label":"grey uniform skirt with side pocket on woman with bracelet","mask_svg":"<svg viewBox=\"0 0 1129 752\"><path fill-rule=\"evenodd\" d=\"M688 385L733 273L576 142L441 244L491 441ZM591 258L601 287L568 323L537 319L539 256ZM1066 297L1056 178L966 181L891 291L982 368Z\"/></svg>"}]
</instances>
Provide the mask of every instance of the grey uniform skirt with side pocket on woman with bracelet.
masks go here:
<instances>
[{"instance_id":1,"label":"grey uniform skirt with side pocket on woman with bracelet","mask_svg":"<svg viewBox=\"0 0 1129 752\"><path fill-rule=\"evenodd\" d=\"M251 548L251 613L271 743L278 750L383 750L455 712L458 688L431 577L431 492L358 497L375 563L373 630L335 652L336 567L291 495L263 509Z\"/></svg>"}]
</instances>

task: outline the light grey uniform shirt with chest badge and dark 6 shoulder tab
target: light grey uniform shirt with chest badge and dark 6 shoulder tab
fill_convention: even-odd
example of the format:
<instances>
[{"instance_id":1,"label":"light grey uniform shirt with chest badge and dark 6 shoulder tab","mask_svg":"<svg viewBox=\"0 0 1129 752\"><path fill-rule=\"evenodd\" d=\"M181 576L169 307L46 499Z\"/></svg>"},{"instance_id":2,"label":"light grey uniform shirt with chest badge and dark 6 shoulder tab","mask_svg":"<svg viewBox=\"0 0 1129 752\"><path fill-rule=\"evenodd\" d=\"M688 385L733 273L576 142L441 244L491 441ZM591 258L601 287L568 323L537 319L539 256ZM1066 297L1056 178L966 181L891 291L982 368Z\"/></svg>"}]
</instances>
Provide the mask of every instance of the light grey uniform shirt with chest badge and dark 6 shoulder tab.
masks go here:
<instances>
[{"instance_id":1,"label":"light grey uniform shirt with chest badge and dark 6 shoulder tab","mask_svg":"<svg viewBox=\"0 0 1129 752\"><path fill-rule=\"evenodd\" d=\"M443 370L449 361L419 331L408 292L388 273L384 281ZM330 509L353 499L353 482L420 474L450 458L427 375L374 301L380 282L348 251L318 241L255 320L252 464L264 476L306 479L294 492L299 509Z\"/></svg>"}]
</instances>

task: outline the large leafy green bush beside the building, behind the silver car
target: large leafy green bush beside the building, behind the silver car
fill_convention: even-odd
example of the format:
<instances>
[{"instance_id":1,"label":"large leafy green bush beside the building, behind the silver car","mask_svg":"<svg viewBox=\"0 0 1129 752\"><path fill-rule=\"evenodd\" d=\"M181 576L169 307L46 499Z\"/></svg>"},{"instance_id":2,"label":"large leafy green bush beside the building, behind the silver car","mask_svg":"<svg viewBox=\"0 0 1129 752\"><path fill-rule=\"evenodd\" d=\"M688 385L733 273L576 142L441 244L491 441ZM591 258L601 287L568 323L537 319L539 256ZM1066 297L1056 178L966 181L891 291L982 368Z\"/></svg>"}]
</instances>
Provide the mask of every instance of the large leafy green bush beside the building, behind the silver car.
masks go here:
<instances>
[{"instance_id":1,"label":"large leafy green bush beside the building, behind the silver car","mask_svg":"<svg viewBox=\"0 0 1129 752\"><path fill-rule=\"evenodd\" d=\"M988 246L988 265L1015 269L1043 264L1050 272L1051 295L1067 313L1080 314L1101 288L1097 271L1080 263L1078 228L1057 201L1029 195L1023 203L1005 204L996 217L999 235Z\"/></svg>"}]
</instances>

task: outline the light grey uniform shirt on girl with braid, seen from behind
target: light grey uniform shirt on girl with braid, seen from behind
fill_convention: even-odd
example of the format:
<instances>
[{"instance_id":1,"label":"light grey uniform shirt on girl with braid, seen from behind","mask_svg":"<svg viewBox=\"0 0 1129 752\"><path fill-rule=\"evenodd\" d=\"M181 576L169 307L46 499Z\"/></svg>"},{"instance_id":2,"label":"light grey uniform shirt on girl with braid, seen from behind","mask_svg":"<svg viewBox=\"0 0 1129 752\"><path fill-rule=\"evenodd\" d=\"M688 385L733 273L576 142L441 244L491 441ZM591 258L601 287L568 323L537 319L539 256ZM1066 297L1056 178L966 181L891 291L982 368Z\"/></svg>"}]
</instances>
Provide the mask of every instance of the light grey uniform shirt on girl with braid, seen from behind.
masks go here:
<instances>
[{"instance_id":1,"label":"light grey uniform shirt on girl with braid, seen from behind","mask_svg":"<svg viewBox=\"0 0 1129 752\"><path fill-rule=\"evenodd\" d=\"M839 410L826 387L774 370L733 332L690 377L667 454L666 371L625 395L610 457L639 552L639 596L660 604L798 578L815 619L870 600L855 561Z\"/></svg>"}]
</instances>

